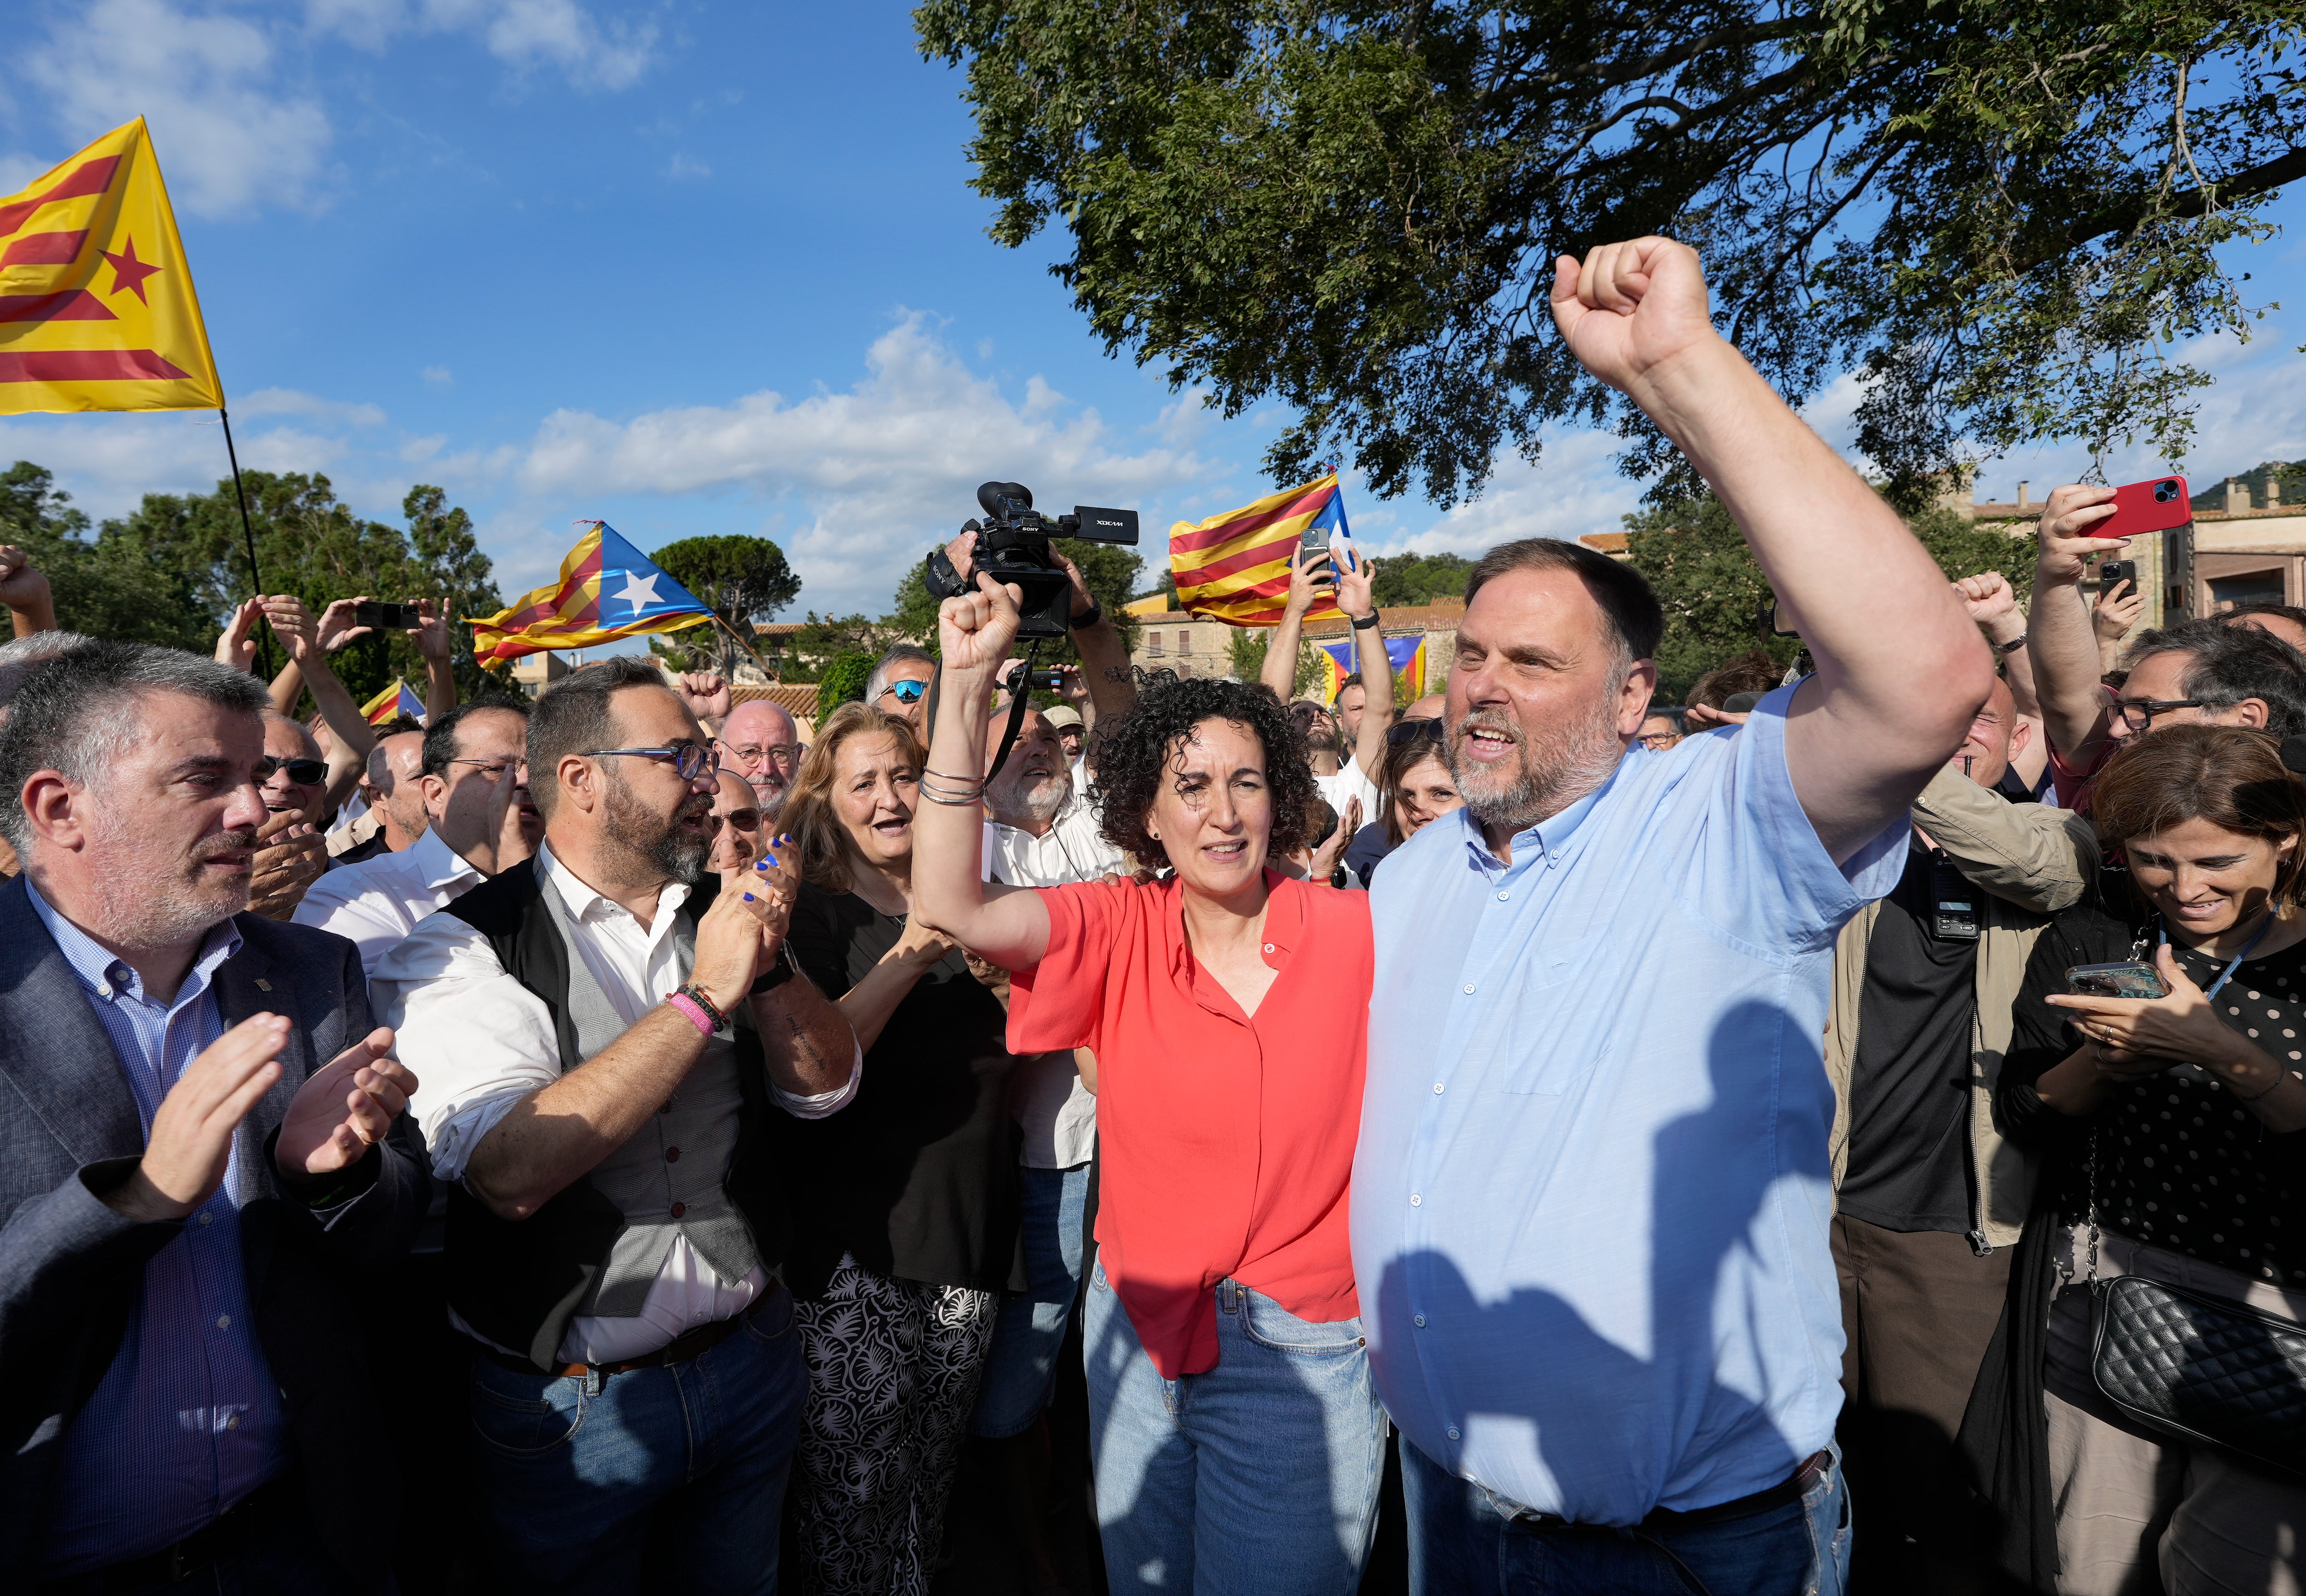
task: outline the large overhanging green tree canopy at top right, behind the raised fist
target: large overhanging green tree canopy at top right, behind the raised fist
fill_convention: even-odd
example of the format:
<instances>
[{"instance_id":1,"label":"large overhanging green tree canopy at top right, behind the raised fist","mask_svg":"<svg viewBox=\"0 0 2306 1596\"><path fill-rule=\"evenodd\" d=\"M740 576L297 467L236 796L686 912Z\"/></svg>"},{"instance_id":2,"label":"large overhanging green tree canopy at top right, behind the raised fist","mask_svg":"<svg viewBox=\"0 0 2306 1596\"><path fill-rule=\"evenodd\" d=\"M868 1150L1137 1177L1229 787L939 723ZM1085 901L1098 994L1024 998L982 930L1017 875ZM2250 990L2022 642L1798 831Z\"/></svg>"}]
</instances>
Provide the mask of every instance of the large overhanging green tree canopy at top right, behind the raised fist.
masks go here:
<instances>
[{"instance_id":1,"label":"large overhanging green tree canopy at top right, behind the raised fist","mask_svg":"<svg viewBox=\"0 0 2306 1596\"><path fill-rule=\"evenodd\" d=\"M922 0L966 65L992 235L1109 351L1238 415L1298 413L1275 482L1476 491L1545 422L1670 445L1554 337L1557 254L1667 233L1787 397L1868 378L1861 447L1919 507L1967 447L2149 441L2181 459L2246 334L2214 251L2306 175L2294 0ZM1965 443L1967 441L1967 443Z\"/></svg>"}]
</instances>

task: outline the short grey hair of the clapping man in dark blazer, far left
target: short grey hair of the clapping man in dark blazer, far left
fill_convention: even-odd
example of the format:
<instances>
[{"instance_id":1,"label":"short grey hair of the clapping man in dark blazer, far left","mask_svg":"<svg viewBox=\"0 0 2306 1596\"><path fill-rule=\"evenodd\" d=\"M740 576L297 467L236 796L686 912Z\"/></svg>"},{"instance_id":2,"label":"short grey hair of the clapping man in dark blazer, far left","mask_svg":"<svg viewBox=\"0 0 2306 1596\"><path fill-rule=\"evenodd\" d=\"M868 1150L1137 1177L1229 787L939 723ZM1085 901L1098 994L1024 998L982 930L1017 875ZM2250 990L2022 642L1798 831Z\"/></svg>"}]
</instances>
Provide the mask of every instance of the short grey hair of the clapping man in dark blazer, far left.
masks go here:
<instances>
[{"instance_id":1,"label":"short grey hair of the clapping man in dark blazer, far left","mask_svg":"<svg viewBox=\"0 0 2306 1596\"><path fill-rule=\"evenodd\" d=\"M30 639L25 639L30 641ZM0 722L0 835L16 853L32 844L23 784L55 770L92 786L138 740L143 699L178 692L242 715L263 715L265 685L247 671L152 643L92 641L32 671Z\"/></svg>"}]
</instances>

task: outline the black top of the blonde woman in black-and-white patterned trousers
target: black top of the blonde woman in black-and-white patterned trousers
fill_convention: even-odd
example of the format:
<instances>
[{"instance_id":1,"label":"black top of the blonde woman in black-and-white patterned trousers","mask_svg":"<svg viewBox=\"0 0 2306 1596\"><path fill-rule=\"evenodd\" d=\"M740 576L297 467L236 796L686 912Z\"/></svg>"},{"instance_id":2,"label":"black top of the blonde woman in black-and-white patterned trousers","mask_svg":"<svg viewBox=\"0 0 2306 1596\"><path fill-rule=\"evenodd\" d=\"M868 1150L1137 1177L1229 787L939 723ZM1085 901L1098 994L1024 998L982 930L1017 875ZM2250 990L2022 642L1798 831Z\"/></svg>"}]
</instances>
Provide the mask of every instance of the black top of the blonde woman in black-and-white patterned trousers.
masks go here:
<instances>
[{"instance_id":1,"label":"black top of the blonde woman in black-and-white patterned trousers","mask_svg":"<svg viewBox=\"0 0 2306 1596\"><path fill-rule=\"evenodd\" d=\"M802 883L793 902L793 957L828 999L902 936L902 916L856 893ZM777 1116L793 1211L784 1278L796 1296L823 1296L842 1252L897 1280L998 1292L1015 1275L1024 1287L1005 1033L1001 999L955 950L897 1003L849 1107Z\"/></svg>"}]
</instances>

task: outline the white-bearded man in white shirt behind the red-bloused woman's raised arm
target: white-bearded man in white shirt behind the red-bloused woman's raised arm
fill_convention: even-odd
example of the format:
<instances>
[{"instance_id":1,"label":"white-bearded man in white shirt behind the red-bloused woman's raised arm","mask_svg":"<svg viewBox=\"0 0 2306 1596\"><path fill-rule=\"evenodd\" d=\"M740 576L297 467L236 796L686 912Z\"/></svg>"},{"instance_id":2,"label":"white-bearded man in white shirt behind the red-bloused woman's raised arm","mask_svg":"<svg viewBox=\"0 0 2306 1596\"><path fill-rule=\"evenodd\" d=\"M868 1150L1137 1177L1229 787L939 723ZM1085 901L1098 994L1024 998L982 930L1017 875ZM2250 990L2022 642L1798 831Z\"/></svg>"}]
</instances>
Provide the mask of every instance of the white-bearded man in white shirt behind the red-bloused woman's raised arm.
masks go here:
<instances>
[{"instance_id":1,"label":"white-bearded man in white shirt behind the red-bloused woman's raised arm","mask_svg":"<svg viewBox=\"0 0 2306 1596\"><path fill-rule=\"evenodd\" d=\"M1008 710L994 717L1001 745ZM1072 784L1058 729L1026 710L1001 773L985 789L985 869L1008 886L1063 886L1125 872L1128 858L1098 833L1098 810ZM1084 1049L1086 1052L1086 1049ZM1091 1068L1095 1068L1091 1063ZM1082 1287L1082 1213L1088 1160L1098 1151L1098 1100L1070 1052L1019 1059L1010 1075L1010 1116L1024 1130L1017 1151L1019 1229L1028 1289L1001 1303L985 1384L969 1432L992 1441L1003 1462L1003 1495L1035 1589L1058 1584L1049 1552L1049 1430L1042 1409L1056 1386L1065 1319Z\"/></svg>"}]
</instances>

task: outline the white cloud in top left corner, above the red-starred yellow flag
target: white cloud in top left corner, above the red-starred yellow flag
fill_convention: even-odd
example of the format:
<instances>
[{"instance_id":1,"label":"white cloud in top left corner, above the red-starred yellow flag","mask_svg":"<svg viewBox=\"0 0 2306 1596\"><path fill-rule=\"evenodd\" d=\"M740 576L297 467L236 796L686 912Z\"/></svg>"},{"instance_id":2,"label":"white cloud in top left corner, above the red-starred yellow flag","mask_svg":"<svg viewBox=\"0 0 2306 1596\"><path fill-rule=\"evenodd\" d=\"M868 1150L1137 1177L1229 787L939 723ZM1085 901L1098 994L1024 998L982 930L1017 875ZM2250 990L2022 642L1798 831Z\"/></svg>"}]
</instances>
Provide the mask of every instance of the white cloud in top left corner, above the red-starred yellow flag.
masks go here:
<instances>
[{"instance_id":1,"label":"white cloud in top left corner, above the red-starred yellow flag","mask_svg":"<svg viewBox=\"0 0 2306 1596\"><path fill-rule=\"evenodd\" d=\"M327 113L274 85L263 23L166 0L95 0L53 18L14 71L67 138L83 143L143 115L171 196L196 217L323 201Z\"/></svg>"}]
</instances>

